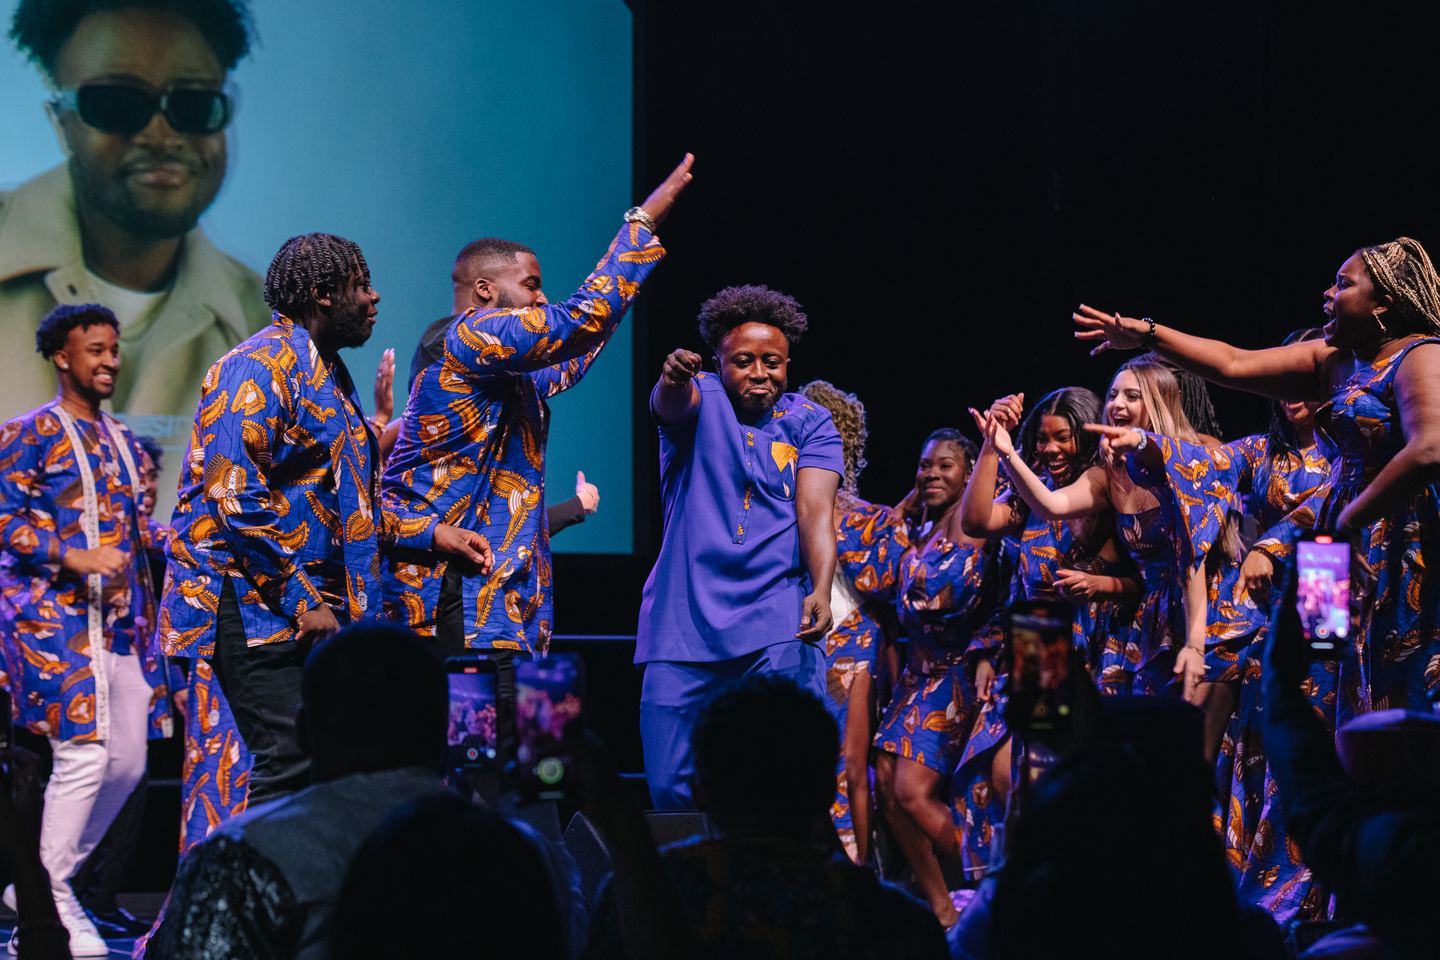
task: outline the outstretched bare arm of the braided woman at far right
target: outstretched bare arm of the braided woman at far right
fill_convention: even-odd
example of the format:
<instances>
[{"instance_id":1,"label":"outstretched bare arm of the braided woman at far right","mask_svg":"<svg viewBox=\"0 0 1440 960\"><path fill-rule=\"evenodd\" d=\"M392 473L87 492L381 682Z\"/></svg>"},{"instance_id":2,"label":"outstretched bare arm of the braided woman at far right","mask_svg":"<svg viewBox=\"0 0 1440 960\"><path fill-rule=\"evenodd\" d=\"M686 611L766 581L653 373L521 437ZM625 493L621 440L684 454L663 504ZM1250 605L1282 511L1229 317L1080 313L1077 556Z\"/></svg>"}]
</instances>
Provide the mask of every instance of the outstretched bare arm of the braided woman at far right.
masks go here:
<instances>
[{"instance_id":1,"label":"outstretched bare arm of the braided woman at far right","mask_svg":"<svg viewBox=\"0 0 1440 960\"><path fill-rule=\"evenodd\" d=\"M1146 320L1104 314L1084 304L1073 317L1076 338L1096 343L1092 356L1106 350L1146 348L1211 383L1236 390L1274 400L1326 399L1323 367L1336 350L1325 345L1323 340L1240 350L1220 340L1182 334L1164 324L1155 324L1152 337Z\"/></svg>"}]
</instances>

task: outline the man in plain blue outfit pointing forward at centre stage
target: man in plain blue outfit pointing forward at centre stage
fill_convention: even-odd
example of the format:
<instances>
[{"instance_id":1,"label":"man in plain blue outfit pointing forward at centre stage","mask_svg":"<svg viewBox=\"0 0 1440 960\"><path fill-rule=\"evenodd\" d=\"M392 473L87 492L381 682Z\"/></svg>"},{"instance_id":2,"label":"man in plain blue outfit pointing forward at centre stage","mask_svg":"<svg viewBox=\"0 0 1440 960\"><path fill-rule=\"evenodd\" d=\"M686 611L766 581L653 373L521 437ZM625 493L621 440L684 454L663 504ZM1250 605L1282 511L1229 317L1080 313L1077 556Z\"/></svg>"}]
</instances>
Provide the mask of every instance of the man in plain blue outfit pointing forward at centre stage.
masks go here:
<instances>
[{"instance_id":1,"label":"man in plain blue outfit pointing forward at centre stage","mask_svg":"<svg viewBox=\"0 0 1440 960\"><path fill-rule=\"evenodd\" d=\"M677 350L649 396L665 537L635 662L647 665L639 723L658 810L694 806L690 731L717 687L776 674L824 694L844 462L829 412L785 393L804 331L792 298L729 286L700 308L717 373Z\"/></svg>"}]
</instances>

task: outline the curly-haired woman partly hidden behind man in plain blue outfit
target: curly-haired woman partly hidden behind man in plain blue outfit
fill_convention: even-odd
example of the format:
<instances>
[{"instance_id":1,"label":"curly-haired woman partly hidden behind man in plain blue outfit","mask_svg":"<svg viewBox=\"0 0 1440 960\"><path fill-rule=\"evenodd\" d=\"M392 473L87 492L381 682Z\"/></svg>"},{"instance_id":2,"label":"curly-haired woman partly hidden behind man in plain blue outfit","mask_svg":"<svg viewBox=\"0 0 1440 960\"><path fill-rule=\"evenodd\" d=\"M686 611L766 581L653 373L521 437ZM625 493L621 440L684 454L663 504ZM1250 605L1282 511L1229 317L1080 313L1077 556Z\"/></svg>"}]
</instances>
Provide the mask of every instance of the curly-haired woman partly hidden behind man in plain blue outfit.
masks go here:
<instances>
[{"instance_id":1,"label":"curly-haired woman partly hidden behind man in plain blue outfit","mask_svg":"<svg viewBox=\"0 0 1440 960\"><path fill-rule=\"evenodd\" d=\"M799 389L829 410L844 443L845 476L835 492L835 579L829 610L835 628L825 635L825 707L840 725L831 820L857 864L870 859L870 741L878 725L878 692L888 695L896 662L896 574L907 545L904 525L888 507L860 499L865 469L865 404L824 380Z\"/></svg>"}]
</instances>

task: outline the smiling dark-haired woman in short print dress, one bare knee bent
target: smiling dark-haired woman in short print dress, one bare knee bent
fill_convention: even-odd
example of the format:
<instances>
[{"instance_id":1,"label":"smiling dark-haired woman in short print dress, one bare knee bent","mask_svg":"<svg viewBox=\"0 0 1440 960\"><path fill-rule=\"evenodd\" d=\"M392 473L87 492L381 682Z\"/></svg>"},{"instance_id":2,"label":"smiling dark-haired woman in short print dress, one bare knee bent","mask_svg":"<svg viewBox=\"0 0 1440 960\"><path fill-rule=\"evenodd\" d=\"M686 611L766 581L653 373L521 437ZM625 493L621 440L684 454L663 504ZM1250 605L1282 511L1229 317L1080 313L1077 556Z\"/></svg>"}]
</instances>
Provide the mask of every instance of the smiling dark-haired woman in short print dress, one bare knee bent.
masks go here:
<instances>
[{"instance_id":1,"label":"smiling dark-haired woman in short print dress, one bare knee bent","mask_svg":"<svg viewBox=\"0 0 1440 960\"><path fill-rule=\"evenodd\" d=\"M936 430L920 449L914 489L896 507L910 547L900 560L896 604L910 633L904 671L876 735L876 786L896 842L940 924L959 918L936 849L966 872L989 865L992 823L1004 813L989 796L940 799L973 720L973 665L998 646L992 613L999 593L996 540L960 530L960 495L975 445L959 430ZM956 826L960 823L962 826Z\"/></svg>"}]
</instances>

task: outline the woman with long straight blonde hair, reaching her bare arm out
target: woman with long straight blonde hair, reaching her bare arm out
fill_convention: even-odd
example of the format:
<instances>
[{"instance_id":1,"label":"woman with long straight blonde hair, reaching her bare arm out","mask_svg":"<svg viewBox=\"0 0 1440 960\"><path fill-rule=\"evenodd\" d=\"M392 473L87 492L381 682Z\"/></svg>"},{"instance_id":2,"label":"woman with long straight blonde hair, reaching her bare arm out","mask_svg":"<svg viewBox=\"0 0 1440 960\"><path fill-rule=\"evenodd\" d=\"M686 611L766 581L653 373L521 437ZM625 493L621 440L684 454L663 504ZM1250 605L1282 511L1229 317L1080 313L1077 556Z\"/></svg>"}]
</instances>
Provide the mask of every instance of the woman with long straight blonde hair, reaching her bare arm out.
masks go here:
<instances>
[{"instance_id":1,"label":"woman with long straight blonde hair, reaching her bare arm out","mask_svg":"<svg viewBox=\"0 0 1440 960\"><path fill-rule=\"evenodd\" d=\"M1051 489L1021 459L1009 430L994 415L975 413L986 442L1005 462L1011 481L1030 508L1045 521L1079 520L1115 511L1115 525L1139 564L1145 583L1123 649L1100 655L1100 679L1112 692L1161 692L1178 675L1185 699L1194 701L1204 679L1205 577L1202 558L1208 543L1194 543L1175 498L1135 482L1123 458L1106 456L1074 481ZM1115 374L1104 407L1104 423L1125 430L1151 429L1197 443L1179 403L1179 386L1159 363L1136 358Z\"/></svg>"}]
</instances>

